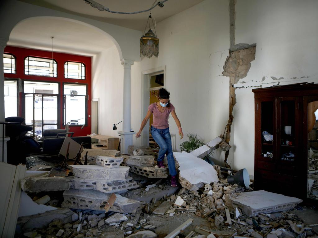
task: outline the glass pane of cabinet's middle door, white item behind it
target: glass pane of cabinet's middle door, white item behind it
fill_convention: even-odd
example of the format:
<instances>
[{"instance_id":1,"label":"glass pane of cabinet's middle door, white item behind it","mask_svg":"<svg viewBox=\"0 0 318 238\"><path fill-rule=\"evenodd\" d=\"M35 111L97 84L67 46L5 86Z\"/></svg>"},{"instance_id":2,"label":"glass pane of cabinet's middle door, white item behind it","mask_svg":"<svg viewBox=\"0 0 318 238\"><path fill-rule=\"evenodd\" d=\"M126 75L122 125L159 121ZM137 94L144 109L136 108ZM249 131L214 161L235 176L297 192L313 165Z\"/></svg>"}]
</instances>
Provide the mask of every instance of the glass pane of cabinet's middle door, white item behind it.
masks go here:
<instances>
[{"instance_id":1,"label":"glass pane of cabinet's middle door, white item behind it","mask_svg":"<svg viewBox=\"0 0 318 238\"><path fill-rule=\"evenodd\" d=\"M295 160L295 101L280 102L280 159Z\"/></svg>"}]
</instances>

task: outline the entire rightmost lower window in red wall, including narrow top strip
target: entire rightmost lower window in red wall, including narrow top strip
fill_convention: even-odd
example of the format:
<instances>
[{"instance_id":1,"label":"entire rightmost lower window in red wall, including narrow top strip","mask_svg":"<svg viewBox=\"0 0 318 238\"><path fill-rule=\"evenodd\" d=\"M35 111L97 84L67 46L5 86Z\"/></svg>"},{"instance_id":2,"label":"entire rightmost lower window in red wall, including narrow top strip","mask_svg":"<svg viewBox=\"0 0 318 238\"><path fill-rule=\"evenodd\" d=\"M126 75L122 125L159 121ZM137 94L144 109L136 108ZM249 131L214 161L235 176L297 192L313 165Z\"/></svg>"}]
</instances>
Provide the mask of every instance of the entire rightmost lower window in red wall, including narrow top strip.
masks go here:
<instances>
[{"instance_id":1,"label":"entire rightmost lower window in red wall, including narrow top strip","mask_svg":"<svg viewBox=\"0 0 318 238\"><path fill-rule=\"evenodd\" d=\"M86 85L64 84L64 124L86 124Z\"/></svg>"}]
</instances>

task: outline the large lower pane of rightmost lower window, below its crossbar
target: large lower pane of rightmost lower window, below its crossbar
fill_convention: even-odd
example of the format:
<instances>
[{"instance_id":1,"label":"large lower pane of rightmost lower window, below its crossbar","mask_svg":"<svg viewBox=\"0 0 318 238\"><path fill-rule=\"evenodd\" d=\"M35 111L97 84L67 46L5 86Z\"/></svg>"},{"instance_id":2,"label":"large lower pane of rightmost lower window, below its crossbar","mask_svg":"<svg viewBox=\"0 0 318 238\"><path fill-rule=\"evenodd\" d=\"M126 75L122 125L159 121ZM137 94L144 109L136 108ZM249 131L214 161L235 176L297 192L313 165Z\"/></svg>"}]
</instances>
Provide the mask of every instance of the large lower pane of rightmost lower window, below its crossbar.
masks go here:
<instances>
[{"instance_id":1,"label":"large lower pane of rightmost lower window, below its crossbar","mask_svg":"<svg viewBox=\"0 0 318 238\"><path fill-rule=\"evenodd\" d=\"M86 97L66 95L66 123L70 125L85 124Z\"/></svg>"}]
</instances>

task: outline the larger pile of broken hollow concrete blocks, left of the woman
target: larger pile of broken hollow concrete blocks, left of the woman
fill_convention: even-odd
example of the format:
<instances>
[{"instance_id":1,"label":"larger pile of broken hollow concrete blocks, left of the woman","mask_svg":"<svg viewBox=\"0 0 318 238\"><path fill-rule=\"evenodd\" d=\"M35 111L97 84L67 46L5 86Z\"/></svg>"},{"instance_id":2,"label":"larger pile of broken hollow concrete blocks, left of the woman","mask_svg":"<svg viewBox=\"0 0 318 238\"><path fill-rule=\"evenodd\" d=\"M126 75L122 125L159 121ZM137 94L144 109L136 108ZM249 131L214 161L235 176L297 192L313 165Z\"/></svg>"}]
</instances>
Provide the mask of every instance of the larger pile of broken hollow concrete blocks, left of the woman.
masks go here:
<instances>
[{"instance_id":1,"label":"larger pile of broken hollow concrete blocks, left of the woman","mask_svg":"<svg viewBox=\"0 0 318 238\"><path fill-rule=\"evenodd\" d=\"M128 176L129 167L120 166L122 161L122 157L96 156L95 165L70 165L74 180L71 189L63 193L64 202L62 206L102 210L110 194L138 188L139 185ZM117 199L119 198L126 199L117 195ZM140 206L135 200L124 202L135 204L137 207ZM116 209L120 210L119 208ZM113 209L113 211L117 211L116 209Z\"/></svg>"}]
</instances>

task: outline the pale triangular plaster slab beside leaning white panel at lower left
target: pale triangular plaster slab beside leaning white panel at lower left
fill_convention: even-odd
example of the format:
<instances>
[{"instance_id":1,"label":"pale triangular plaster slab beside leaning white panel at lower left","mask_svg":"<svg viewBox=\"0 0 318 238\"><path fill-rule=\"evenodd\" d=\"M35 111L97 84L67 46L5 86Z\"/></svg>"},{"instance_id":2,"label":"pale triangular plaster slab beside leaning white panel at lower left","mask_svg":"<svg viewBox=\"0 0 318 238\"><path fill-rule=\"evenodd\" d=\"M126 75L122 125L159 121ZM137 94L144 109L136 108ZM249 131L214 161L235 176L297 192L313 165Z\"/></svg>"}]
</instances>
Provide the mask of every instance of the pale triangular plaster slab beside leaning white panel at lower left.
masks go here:
<instances>
[{"instance_id":1,"label":"pale triangular plaster slab beside leaning white panel at lower left","mask_svg":"<svg viewBox=\"0 0 318 238\"><path fill-rule=\"evenodd\" d=\"M52 206L46 206L43 204L38 204L36 202L33 202L32 198L29 197L24 191L22 191L18 217L44 213L46 211L51 211L56 209L57 208Z\"/></svg>"}]
</instances>

